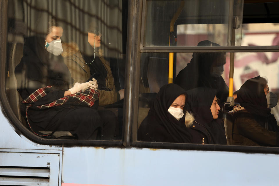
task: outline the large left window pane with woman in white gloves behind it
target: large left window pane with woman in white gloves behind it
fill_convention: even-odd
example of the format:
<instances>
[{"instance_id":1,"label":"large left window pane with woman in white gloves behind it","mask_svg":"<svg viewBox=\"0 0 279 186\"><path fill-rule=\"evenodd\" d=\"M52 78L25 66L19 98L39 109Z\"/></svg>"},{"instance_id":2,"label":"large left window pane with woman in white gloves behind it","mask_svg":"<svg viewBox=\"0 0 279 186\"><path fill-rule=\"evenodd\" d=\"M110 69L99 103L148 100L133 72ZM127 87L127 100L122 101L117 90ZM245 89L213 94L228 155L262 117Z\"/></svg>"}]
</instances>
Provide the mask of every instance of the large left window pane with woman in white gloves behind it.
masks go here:
<instances>
[{"instance_id":1,"label":"large left window pane with woman in white gloves behind it","mask_svg":"<svg viewBox=\"0 0 279 186\"><path fill-rule=\"evenodd\" d=\"M6 92L26 128L121 139L127 9L122 0L8 2Z\"/></svg>"}]
</instances>

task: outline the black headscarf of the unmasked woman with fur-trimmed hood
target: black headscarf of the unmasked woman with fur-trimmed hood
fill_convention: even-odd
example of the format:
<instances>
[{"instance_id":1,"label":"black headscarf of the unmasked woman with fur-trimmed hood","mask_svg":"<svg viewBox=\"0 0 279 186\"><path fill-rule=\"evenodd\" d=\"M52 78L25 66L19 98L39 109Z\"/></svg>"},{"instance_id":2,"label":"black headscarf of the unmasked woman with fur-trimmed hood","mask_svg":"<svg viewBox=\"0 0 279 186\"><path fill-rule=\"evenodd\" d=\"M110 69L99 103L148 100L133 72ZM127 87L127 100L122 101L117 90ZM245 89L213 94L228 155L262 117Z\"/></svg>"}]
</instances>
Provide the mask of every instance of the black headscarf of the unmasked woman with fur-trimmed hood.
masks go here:
<instances>
[{"instance_id":1,"label":"black headscarf of the unmasked woman with fur-trimmed hood","mask_svg":"<svg viewBox=\"0 0 279 186\"><path fill-rule=\"evenodd\" d=\"M211 144L226 144L224 125L214 119L210 107L217 94L216 89L198 87L187 91L187 110L194 114L195 121L202 124L212 138Z\"/></svg>"}]
</instances>

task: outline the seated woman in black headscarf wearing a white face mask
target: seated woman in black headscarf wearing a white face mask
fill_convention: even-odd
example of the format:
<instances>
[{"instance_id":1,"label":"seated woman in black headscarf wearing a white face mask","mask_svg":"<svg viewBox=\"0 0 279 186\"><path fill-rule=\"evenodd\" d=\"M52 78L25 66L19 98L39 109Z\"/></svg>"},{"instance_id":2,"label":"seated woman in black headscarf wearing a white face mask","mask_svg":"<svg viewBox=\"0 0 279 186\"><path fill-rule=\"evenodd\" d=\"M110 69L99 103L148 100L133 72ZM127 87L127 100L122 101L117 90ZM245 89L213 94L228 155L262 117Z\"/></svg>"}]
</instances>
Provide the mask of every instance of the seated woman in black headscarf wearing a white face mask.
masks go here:
<instances>
[{"instance_id":1,"label":"seated woman in black headscarf wearing a white face mask","mask_svg":"<svg viewBox=\"0 0 279 186\"><path fill-rule=\"evenodd\" d=\"M184 124L186 99L186 92L178 85L162 86L153 107L137 131L137 139L148 142L189 143L191 135Z\"/></svg>"}]
</instances>

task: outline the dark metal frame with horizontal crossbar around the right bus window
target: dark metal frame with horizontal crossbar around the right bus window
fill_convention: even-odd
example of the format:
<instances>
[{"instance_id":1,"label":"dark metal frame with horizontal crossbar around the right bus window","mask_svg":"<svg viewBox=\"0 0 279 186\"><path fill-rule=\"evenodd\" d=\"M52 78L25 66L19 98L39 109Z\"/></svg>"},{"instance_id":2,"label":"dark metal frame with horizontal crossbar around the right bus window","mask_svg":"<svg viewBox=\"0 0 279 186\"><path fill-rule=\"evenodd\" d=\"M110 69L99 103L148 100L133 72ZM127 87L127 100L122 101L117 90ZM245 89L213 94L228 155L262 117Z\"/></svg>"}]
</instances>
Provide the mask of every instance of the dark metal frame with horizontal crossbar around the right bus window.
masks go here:
<instances>
[{"instance_id":1,"label":"dark metal frame with horizontal crossbar around the right bus window","mask_svg":"<svg viewBox=\"0 0 279 186\"><path fill-rule=\"evenodd\" d=\"M145 21L146 21L146 0L143 0L142 10L142 26L140 47L138 53L183 53L183 52L279 52L278 46L220 46L220 47L145 47ZM137 43L134 43L137 45ZM127 45L128 46L128 45ZM140 58L134 58L134 63L140 64ZM135 79L140 79L140 69L136 69L138 73ZM135 87L134 87L135 86ZM132 84L130 88L134 87L134 91L138 91L139 82ZM135 94L135 100L139 100L139 94ZM138 103L136 103L138 105ZM212 145L212 144L183 144L183 143L166 143L166 142L142 142L137 140L137 119L138 107L133 107L133 125L131 132L130 146L137 148L151 148L151 149L177 149L177 150L200 150L200 151L229 151L229 152L242 152L242 153L272 153L279 154L279 147L265 147L265 146L236 146L236 145Z\"/></svg>"}]
</instances>

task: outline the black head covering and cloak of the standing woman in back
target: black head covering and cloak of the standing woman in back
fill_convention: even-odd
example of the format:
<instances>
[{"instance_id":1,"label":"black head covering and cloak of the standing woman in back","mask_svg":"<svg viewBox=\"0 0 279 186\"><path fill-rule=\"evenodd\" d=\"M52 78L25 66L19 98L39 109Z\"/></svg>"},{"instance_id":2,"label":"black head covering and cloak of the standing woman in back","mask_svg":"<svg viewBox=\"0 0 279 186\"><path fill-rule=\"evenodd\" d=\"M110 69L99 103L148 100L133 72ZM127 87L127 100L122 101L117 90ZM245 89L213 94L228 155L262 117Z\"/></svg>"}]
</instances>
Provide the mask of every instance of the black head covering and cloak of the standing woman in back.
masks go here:
<instances>
[{"instance_id":1,"label":"black head covering and cloak of the standing woman in back","mask_svg":"<svg viewBox=\"0 0 279 186\"><path fill-rule=\"evenodd\" d=\"M217 43L205 40L197 46L220 46ZM212 66L222 66L226 63L226 53L193 53L193 58L177 75L174 83L185 90L196 87L210 87L217 89L217 97L221 101L226 101L228 96L228 86L222 76L211 76Z\"/></svg>"}]
</instances>

